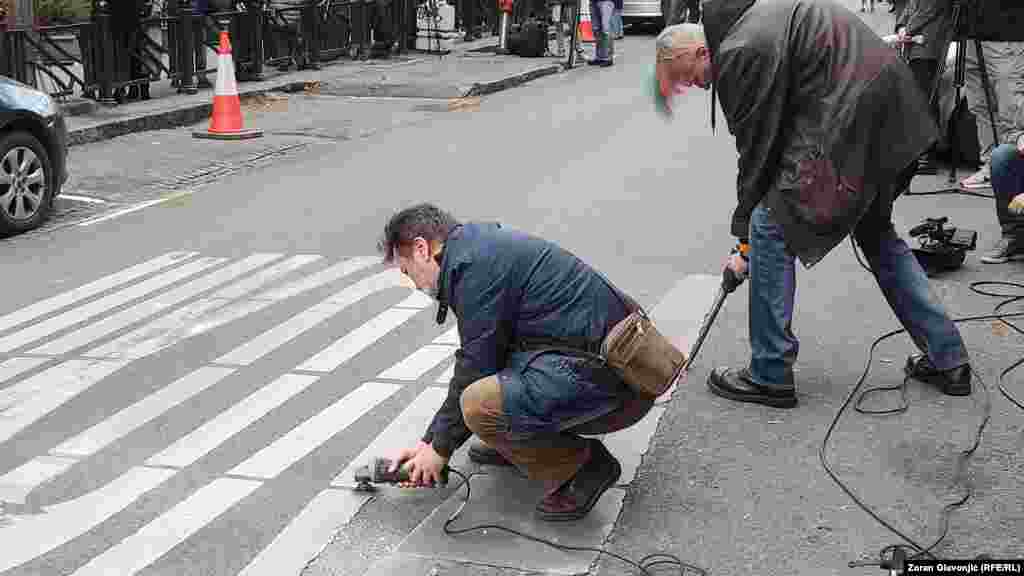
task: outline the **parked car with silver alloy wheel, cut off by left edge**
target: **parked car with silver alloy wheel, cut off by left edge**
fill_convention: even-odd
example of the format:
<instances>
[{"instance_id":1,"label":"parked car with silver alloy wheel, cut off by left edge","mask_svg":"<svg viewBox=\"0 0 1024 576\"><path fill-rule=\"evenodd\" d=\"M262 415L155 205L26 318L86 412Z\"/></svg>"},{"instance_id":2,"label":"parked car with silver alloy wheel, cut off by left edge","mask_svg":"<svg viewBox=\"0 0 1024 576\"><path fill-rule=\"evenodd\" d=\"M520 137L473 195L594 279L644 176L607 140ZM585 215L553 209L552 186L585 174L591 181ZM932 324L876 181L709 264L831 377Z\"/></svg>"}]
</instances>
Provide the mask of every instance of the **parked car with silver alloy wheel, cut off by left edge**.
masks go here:
<instances>
[{"instance_id":1,"label":"parked car with silver alloy wheel, cut off by left edge","mask_svg":"<svg viewBox=\"0 0 1024 576\"><path fill-rule=\"evenodd\" d=\"M0 235L39 227L68 180L68 128L48 94L0 76Z\"/></svg>"}]
</instances>

